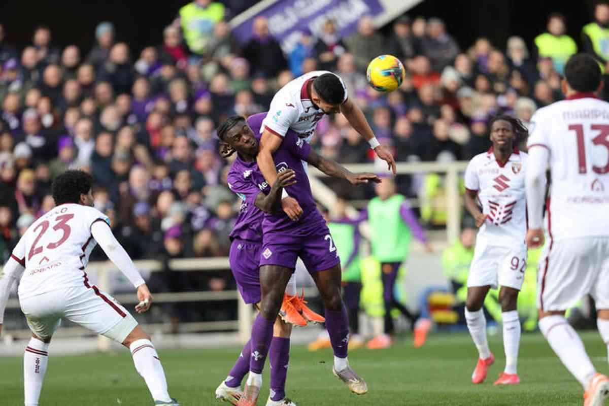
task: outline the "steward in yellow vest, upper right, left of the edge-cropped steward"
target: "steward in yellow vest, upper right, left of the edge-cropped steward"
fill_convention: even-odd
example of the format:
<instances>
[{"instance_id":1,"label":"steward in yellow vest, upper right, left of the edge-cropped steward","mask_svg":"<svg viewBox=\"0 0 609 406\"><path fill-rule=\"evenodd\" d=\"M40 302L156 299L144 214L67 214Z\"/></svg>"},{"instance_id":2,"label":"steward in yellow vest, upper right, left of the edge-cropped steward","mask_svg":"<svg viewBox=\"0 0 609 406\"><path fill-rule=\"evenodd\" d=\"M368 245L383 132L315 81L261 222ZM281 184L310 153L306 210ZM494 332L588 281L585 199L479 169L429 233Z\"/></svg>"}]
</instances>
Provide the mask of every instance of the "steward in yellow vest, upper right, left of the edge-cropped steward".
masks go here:
<instances>
[{"instance_id":1,"label":"steward in yellow vest, upper right, left of the edge-cropped steward","mask_svg":"<svg viewBox=\"0 0 609 406\"><path fill-rule=\"evenodd\" d=\"M535 37L537 55L552 58L554 69L561 75L569 57L577 52L577 44L565 32L565 16L552 13L547 19L547 32Z\"/></svg>"}]
</instances>

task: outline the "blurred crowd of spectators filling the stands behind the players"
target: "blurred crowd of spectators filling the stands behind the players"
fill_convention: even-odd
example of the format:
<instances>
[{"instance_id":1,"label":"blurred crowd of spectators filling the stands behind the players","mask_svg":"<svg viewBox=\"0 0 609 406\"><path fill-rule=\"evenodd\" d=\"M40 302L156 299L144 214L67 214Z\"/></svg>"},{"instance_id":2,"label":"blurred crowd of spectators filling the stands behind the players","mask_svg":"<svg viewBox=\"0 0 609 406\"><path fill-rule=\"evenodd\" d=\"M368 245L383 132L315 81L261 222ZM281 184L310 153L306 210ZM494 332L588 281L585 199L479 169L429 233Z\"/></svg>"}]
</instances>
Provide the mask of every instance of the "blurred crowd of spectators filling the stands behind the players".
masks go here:
<instances>
[{"instance_id":1,"label":"blurred crowd of spectators filling the stands behind the players","mask_svg":"<svg viewBox=\"0 0 609 406\"><path fill-rule=\"evenodd\" d=\"M563 65L578 51L557 14L529 44L520 37L458 44L440 19L408 16L389 35L365 17L340 38L328 20L320 32L302 30L286 54L265 18L255 19L251 40L238 43L228 13L219 2L195 0L160 27L162 43L139 54L116 38L111 22L91 33L92 49L56 44L45 26L18 49L0 25L2 259L53 207L51 181L71 168L94 175L96 206L134 259L225 256L238 206L214 133L224 117L265 111L289 80L328 69L343 78L397 161L469 159L488 149L494 114L528 124L537 108L560 100ZM608 24L609 6L597 5L579 48L603 66L609 55L598 43L609 38ZM368 62L384 53L407 69L390 94L365 78ZM314 146L342 163L375 159L340 114L320 122ZM417 195L421 184L408 185L406 194Z\"/></svg>"}]
</instances>

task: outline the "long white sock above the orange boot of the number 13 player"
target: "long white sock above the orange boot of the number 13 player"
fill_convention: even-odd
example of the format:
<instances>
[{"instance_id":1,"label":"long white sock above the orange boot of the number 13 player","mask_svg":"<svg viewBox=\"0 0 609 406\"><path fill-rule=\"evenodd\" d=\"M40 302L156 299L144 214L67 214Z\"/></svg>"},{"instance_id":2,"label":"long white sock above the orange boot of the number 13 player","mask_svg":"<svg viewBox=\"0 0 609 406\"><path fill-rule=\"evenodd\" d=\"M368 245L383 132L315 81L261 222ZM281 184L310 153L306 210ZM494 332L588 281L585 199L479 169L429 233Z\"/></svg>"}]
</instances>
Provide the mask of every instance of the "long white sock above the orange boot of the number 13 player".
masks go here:
<instances>
[{"instance_id":1,"label":"long white sock above the orange boot of the number 13 player","mask_svg":"<svg viewBox=\"0 0 609 406\"><path fill-rule=\"evenodd\" d=\"M547 316L539 321L539 328L558 358L582 384L584 390L596 374L582 339L563 316Z\"/></svg>"}]
</instances>

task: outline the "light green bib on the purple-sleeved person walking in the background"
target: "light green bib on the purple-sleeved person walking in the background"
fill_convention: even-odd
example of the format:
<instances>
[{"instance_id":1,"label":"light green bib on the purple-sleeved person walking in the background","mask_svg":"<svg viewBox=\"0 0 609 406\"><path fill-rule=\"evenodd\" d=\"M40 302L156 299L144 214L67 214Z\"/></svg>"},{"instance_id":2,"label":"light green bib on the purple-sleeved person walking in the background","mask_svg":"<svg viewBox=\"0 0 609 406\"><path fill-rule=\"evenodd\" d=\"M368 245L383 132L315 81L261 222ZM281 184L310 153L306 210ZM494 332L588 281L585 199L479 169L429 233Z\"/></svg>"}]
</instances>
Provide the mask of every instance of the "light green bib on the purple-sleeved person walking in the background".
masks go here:
<instances>
[{"instance_id":1,"label":"light green bib on the purple-sleeved person walking in the background","mask_svg":"<svg viewBox=\"0 0 609 406\"><path fill-rule=\"evenodd\" d=\"M393 195L368 203L372 255L381 262L402 262L408 256L412 236L400 215L404 200L403 195Z\"/></svg>"}]
</instances>

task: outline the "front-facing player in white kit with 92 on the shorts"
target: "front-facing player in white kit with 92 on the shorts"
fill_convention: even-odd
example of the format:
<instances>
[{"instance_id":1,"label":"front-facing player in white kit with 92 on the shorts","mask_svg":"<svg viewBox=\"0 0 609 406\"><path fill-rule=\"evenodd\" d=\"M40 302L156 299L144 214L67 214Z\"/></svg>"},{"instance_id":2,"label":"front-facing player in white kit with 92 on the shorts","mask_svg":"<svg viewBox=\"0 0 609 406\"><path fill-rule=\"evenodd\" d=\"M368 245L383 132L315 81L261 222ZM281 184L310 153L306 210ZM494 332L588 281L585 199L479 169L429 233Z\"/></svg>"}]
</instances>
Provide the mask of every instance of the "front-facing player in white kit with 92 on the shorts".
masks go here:
<instances>
[{"instance_id":1,"label":"front-facing player in white kit with 92 on the shorts","mask_svg":"<svg viewBox=\"0 0 609 406\"><path fill-rule=\"evenodd\" d=\"M493 118L490 128L493 146L474 156L465 170L465 207L480 228L467 280L465 320L479 352L471 381L482 383L495 362L482 306L488 290L501 286L505 369L495 385L515 385L520 382L516 363L521 331L516 302L527 261L524 173L528 158L516 145L527 130L510 116Z\"/></svg>"}]
</instances>

